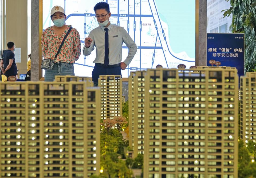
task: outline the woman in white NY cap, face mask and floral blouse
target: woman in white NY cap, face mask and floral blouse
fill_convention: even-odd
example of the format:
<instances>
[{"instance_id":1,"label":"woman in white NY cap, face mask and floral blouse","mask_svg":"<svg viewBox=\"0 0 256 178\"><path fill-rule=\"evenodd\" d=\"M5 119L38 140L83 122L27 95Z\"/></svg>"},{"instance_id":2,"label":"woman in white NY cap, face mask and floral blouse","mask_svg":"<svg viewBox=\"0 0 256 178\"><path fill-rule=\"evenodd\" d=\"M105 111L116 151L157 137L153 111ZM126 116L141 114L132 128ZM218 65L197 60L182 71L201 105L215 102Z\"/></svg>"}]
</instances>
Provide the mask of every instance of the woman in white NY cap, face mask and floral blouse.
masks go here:
<instances>
[{"instance_id":1,"label":"woman in white NY cap, face mask and floral blouse","mask_svg":"<svg viewBox=\"0 0 256 178\"><path fill-rule=\"evenodd\" d=\"M74 66L81 54L80 35L72 28L56 58L55 55L68 32L70 25L65 24L67 16L61 6L54 6L51 10L53 26L48 27L42 34L42 53L45 59L54 61L51 70L45 70L45 81L53 81L55 75L74 75Z\"/></svg>"}]
</instances>

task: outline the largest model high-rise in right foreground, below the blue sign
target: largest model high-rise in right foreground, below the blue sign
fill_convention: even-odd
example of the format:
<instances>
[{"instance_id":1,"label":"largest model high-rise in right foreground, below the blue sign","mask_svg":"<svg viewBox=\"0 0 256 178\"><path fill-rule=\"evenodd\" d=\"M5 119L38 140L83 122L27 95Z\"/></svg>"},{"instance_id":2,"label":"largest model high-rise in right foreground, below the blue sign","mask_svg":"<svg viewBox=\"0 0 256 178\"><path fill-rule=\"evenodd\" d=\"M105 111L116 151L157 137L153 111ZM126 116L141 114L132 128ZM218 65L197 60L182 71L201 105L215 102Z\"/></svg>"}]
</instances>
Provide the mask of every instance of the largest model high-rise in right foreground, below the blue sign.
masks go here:
<instances>
[{"instance_id":1,"label":"largest model high-rise in right foreground, below the blue sign","mask_svg":"<svg viewBox=\"0 0 256 178\"><path fill-rule=\"evenodd\" d=\"M235 69L147 70L144 177L237 178L237 83Z\"/></svg>"}]
</instances>

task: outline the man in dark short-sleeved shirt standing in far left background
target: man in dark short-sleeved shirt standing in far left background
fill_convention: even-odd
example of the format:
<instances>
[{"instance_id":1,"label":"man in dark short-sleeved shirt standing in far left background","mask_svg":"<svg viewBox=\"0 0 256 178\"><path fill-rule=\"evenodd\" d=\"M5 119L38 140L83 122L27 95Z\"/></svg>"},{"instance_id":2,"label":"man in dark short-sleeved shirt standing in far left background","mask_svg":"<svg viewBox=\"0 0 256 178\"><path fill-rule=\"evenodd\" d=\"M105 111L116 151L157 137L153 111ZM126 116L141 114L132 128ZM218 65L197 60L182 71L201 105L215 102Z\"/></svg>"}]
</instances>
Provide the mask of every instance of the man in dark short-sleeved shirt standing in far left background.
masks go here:
<instances>
[{"instance_id":1,"label":"man in dark short-sleeved shirt standing in far left background","mask_svg":"<svg viewBox=\"0 0 256 178\"><path fill-rule=\"evenodd\" d=\"M7 50L3 53L3 74L6 75L6 77L9 76L16 76L17 75L17 65L15 63L15 45L13 42L7 43Z\"/></svg>"}]
</instances>

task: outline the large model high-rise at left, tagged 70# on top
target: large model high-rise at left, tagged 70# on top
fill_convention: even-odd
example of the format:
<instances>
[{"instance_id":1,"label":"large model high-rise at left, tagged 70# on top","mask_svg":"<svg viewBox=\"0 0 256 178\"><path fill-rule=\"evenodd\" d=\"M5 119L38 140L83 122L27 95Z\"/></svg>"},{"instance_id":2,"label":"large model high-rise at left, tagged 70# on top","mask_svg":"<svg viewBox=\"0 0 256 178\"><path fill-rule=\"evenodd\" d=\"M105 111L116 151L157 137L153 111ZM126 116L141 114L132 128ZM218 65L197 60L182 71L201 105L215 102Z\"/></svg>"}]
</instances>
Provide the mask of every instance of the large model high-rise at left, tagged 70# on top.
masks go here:
<instances>
[{"instance_id":1,"label":"large model high-rise at left, tagged 70# on top","mask_svg":"<svg viewBox=\"0 0 256 178\"><path fill-rule=\"evenodd\" d=\"M100 90L86 82L0 83L1 177L100 173Z\"/></svg>"}]
</instances>

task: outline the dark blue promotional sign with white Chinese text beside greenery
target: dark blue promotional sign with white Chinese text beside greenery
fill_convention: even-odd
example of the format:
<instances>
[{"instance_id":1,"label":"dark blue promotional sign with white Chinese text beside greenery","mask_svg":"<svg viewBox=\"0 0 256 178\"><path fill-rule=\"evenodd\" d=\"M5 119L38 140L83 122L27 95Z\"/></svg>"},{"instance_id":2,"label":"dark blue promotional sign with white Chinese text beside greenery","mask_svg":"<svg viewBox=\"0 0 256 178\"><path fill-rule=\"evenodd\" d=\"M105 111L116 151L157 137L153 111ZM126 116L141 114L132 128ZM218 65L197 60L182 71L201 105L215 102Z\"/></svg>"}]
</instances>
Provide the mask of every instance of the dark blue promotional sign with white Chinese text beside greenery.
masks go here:
<instances>
[{"instance_id":1,"label":"dark blue promotional sign with white Chinese text beside greenery","mask_svg":"<svg viewBox=\"0 0 256 178\"><path fill-rule=\"evenodd\" d=\"M207 33L207 66L236 67L244 75L244 33Z\"/></svg>"}]
</instances>

